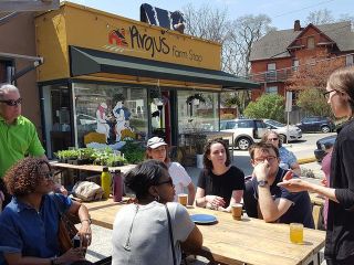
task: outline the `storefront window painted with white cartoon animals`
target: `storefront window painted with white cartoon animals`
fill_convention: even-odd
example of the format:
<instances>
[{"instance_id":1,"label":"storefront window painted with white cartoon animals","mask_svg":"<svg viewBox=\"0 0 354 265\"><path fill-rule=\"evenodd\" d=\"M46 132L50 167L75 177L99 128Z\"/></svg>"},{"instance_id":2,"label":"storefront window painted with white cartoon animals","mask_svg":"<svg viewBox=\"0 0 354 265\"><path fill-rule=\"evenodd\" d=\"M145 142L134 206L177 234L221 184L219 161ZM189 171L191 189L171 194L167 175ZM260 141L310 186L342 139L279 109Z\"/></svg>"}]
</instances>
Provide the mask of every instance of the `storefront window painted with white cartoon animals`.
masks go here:
<instances>
[{"instance_id":1,"label":"storefront window painted with white cartoon animals","mask_svg":"<svg viewBox=\"0 0 354 265\"><path fill-rule=\"evenodd\" d=\"M79 147L146 138L146 88L75 83L73 94Z\"/></svg>"}]
</instances>

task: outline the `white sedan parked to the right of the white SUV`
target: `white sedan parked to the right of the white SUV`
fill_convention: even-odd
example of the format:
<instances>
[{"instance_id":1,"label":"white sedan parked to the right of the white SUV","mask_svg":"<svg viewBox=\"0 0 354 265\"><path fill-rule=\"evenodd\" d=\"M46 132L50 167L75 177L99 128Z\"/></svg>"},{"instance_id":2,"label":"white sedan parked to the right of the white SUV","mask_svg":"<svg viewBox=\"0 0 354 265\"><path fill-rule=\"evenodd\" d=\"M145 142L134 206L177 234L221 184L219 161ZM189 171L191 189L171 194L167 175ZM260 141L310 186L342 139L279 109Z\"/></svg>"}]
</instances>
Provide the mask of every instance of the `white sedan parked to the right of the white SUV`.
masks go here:
<instances>
[{"instance_id":1,"label":"white sedan parked to the right of the white SUV","mask_svg":"<svg viewBox=\"0 0 354 265\"><path fill-rule=\"evenodd\" d=\"M263 119L267 127L279 134L282 142L287 142L288 126L273 119ZM302 138L302 131L298 126L289 125L289 141L300 140Z\"/></svg>"}]
</instances>

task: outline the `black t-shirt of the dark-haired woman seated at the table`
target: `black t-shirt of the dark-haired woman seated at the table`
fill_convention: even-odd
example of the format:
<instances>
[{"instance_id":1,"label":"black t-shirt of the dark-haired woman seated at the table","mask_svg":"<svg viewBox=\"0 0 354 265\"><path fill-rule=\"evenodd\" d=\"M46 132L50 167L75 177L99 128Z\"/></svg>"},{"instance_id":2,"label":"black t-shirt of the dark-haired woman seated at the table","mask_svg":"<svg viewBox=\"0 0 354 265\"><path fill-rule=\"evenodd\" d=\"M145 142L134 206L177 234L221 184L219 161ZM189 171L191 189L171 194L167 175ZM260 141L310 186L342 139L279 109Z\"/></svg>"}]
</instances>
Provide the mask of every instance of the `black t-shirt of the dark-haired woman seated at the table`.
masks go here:
<instances>
[{"instance_id":1,"label":"black t-shirt of the dark-haired woman seated at the table","mask_svg":"<svg viewBox=\"0 0 354 265\"><path fill-rule=\"evenodd\" d=\"M228 208L232 191L244 189L244 173L231 166L223 174L215 174L211 170L202 170L199 174L198 187L205 190L205 195L222 197Z\"/></svg>"}]
</instances>

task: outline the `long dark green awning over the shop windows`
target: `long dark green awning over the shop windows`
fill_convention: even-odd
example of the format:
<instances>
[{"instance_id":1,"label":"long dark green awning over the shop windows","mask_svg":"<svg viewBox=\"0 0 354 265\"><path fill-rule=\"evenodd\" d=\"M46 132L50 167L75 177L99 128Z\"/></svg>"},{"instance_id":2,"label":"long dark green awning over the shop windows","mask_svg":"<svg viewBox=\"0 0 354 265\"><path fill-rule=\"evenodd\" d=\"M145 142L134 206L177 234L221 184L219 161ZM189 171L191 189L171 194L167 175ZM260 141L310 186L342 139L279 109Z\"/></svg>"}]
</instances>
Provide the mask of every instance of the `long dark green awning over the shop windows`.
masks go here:
<instances>
[{"instance_id":1,"label":"long dark green awning over the shop windows","mask_svg":"<svg viewBox=\"0 0 354 265\"><path fill-rule=\"evenodd\" d=\"M110 73L221 85L222 88L232 89L260 87L259 83L237 77L222 71L157 62L77 46L70 46L70 55L72 77L96 73Z\"/></svg>"}]
</instances>

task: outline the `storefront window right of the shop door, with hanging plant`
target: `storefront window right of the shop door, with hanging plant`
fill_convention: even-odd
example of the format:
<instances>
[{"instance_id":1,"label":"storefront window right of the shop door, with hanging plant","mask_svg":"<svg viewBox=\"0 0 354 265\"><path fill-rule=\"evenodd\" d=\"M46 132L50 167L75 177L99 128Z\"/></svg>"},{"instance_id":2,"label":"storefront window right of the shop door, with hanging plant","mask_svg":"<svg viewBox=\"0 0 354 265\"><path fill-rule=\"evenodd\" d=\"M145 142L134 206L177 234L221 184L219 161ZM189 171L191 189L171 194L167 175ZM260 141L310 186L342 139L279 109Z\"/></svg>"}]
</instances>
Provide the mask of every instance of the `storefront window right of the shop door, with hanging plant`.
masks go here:
<instances>
[{"instance_id":1,"label":"storefront window right of the shop door, with hanging plant","mask_svg":"<svg viewBox=\"0 0 354 265\"><path fill-rule=\"evenodd\" d=\"M179 91L179 132L219 130L218 93Z\"/></svg>"}]
</instances>

